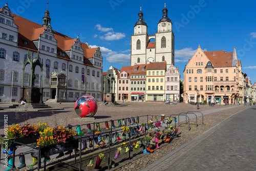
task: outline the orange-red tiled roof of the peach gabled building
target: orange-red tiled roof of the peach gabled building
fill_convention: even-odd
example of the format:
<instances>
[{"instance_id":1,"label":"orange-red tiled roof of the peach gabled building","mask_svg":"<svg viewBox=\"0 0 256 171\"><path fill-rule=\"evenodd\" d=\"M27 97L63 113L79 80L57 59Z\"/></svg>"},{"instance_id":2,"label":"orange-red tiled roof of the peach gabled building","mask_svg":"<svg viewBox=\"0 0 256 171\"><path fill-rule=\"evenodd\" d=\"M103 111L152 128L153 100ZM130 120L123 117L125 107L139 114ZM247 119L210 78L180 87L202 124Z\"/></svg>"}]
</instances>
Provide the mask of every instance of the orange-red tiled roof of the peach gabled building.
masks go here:
<instances>
[{"instance_id":1,"label":"orange-red tiled roof of the peach gabled building","mask_svg":"<svg viewBox=\"0 0 256 171\"><path fill-rule=\"evenodd\" d=\"M233 52L204 51L214 67L232 67ZM215 54L215 55L214 55Z\"/></svg>"}]
</instances>

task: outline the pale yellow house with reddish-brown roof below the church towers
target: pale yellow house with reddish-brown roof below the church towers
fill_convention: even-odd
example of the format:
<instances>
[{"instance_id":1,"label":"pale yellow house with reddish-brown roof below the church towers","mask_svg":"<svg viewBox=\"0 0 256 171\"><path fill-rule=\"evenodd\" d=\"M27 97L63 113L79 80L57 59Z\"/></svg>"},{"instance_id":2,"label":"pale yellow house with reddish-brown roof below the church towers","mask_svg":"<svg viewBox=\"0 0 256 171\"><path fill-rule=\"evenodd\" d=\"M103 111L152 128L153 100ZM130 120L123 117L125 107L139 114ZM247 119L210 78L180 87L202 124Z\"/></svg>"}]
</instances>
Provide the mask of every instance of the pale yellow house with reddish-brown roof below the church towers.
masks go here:
<instances>
[{"instance_id":1,"label":"pale yellow house with reddish-brown roof below the church towers","mask_svg":"<svg viewBox=\"0 0 256 171\"><path fill-rule=\"evenodd\" d=\"M146 101L164 102L165 62L150 62L146 70Z\"/></svg>"}]
</instances>

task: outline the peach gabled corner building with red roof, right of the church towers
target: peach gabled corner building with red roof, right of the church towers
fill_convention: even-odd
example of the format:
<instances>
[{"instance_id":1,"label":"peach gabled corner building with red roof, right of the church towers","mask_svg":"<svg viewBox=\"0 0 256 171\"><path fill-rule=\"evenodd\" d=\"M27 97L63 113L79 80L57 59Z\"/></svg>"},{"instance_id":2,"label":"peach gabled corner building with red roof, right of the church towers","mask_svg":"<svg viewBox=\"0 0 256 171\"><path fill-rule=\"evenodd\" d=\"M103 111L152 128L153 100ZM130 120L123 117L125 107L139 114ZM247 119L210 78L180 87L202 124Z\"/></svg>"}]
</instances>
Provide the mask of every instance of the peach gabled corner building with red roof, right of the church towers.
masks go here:
<instances>
[{"instance_id":1,"label":"peach gabled corner building with red roof, right of the church towers","mask_svg":"<svg viewBox=\"0 0 256 171\"><path fill-rule=\"evenodd\" d=\"M203 102L207 99L222 104L238 102L239 67L236 48L233 52L203 51L199 45L183 74L186 102Z\"/></svg>"}]
</instances>

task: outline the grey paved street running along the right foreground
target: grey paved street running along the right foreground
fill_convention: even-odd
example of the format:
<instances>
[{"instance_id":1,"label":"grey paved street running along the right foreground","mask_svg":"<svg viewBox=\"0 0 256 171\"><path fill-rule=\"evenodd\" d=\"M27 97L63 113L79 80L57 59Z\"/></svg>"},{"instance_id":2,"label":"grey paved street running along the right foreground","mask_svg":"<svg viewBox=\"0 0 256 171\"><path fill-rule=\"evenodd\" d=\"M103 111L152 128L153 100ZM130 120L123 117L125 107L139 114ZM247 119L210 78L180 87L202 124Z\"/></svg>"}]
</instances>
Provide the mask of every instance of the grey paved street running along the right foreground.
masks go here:
<instances>
[{"instance_id":1,"label":"grey paved street running along the right foreground","mask_svg":"<svg viewBox=\"0 0 256 171\"><path fill-rule=\"evenodd\" d=\"M231 116L143 170L255 170L255 110Z\"/></svg>"}]
</instances>

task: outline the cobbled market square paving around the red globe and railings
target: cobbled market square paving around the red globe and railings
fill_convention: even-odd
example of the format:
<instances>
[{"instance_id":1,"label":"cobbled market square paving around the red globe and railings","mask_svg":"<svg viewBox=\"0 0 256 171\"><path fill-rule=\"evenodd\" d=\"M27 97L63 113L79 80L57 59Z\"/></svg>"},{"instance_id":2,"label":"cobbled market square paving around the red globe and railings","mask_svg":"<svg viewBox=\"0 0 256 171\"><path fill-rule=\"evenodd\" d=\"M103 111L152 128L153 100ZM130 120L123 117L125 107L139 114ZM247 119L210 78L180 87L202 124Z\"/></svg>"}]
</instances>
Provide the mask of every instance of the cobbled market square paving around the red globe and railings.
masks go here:
<instances>
[{"instance_id":1,"label":"cobbled market square paving around the red globe and railings","mask_svg":"<svg viewBox=\"0 0 256 171\"><path fill-rule=\"evenodd\" d=\"M105 121L110 119L120 119L131 116L143 116L143 115L161 115L165 114L169 116L170 114L179 114L181 112L187 111L197 111L196 105L189 105L185 103L179 103L176 105L172 104L163 104L163 103L141 103L141 102L125 102L127 106L116 107L116 106L104 106L103 103L98 102L98 112L94 116L95 122L97 121ZM30 124L40 122L47 122L49 126L59 126L61 123L63 125L67 124L84 124L84 123L92 123L94 121L84 121L81 120L74 112L74 103L49 103L52 107L62 107L65 110L62 111L44 111L44 112L6 112L1 111L1 114L8 115L8 123L19 123L23 124L24 122L28 122ZM0 104L1 107L7 107L8 104ZM140 170L144 167L152 164L152 162L157 161L164 155L169 154L174 149L178 148L182 144L188 142L189 140L197 137L202 134L204 131L210 129L210 127L216 125L221 120L224 120L228 116L241 111L247 108L247 106L242 105L215 105L213 107L208 105L200 105L200 109L198 111L203 112L204 114L208 114L204 116L204 125L199 123L198 128L195 125L195 119L190 120L191 130L187 131L187 125L182 124L180 129L180 134L177 136L177 139L160 148L160 150L155 151L152 155L143 156L143 159L147 162L144 162L143 159L138 159L136 161L127 161L126 165L122 167L121 163L119 163L118 170ZM216 113L214 113L216 112ZM1 117L0 114L0 117ZM183 119L184 120L184 119ZM144 117L140 119L140 123L146 122L147 118ZM198 117L198 122L201 121L201 118ZM0 119L0 133L3 134L3 119ZM103 123L102 123L103 124ZM102 125L103 126L103 125ZM104 127L103 127L104 128ZM82 127L82 131L86 132L86 126ZM162 149L162 150L161 150ZM53 156L54 157L54 156ZM29 158L27 158L29 159ZM26 159L26 161L28 161ZM52 158L52 162L56 162L56 159ZM17 161L18 162L18 161ZM29 161L28 161L29 162ZM130 163L129 163L130 162ZM16 163L16 162L15 162ZM29 163L28 163L29 164ZM114 169L114 168L113 168ZM116 168L115 168L116 169ZM24 170L24 169L23 169Z\"/></svg>"}]
</instances>

